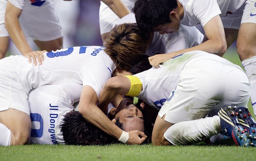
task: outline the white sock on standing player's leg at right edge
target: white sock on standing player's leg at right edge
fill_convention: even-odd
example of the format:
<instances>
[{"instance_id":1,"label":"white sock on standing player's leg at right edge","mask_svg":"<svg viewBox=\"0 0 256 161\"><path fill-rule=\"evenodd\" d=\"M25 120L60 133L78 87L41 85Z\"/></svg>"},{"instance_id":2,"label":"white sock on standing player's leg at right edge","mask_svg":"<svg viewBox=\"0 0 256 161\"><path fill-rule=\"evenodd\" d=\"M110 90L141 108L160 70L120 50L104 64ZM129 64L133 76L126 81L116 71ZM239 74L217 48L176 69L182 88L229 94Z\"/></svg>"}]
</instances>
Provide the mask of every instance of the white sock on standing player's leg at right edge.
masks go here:
<instances>
[{"instance_id":1,"label":"white sock on standing player's leg at right edge","mask_svg":"<svg viewBox=\"0 0 256 161\"><path fill-rule=\"evenodd\" d=\"M253 105L254 115L256 115L256 56L242 61L251 88L251 104Z\"/></svg>"}]
</instances>

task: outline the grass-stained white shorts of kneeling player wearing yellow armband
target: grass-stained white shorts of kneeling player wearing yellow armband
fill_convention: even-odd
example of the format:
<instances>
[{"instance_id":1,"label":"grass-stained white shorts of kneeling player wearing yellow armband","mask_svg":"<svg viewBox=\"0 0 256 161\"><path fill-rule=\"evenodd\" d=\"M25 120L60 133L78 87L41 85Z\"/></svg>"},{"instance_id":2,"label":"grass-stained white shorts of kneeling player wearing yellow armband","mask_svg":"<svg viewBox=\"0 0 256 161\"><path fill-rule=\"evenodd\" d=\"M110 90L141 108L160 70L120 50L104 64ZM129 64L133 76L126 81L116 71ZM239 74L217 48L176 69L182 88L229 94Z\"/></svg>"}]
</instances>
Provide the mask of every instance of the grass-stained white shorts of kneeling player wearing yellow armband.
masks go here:
<instances>
[{"instance_id":1,"label":"grass-stained white shorts of kneeling player wearing yellow armband","mask_svg":"<svg viewBox=\"0 0 256 161\"><path fill-rule=\"evenodd\" d=\"M245 107L249 97L249 80L239 66L209 59L190 60L159 116L166 115L165 121L170 123L196 120L216 115L225 104Z\"/></svg>"}]
</instances>

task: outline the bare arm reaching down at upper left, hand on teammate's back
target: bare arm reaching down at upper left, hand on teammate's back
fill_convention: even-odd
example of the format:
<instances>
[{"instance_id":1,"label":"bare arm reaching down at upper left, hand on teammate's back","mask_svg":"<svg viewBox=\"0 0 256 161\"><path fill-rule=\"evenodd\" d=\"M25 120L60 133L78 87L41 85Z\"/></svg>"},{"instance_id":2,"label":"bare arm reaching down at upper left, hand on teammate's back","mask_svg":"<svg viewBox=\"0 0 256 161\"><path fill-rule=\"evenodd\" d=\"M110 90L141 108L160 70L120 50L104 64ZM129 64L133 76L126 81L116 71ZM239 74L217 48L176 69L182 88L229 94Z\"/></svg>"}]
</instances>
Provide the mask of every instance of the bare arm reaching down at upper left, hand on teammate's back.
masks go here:
<instances>
[{"instance_id":1,"label":"bare arm reaching down at upper left, hand on teammate's back","mask_svg":"<svg viewBox=\"0 0 256 161\"><path fill-rule=\"evenodd\" d=\"M28 57L29 62L31 62L32 57L35 65L37 64L36 59L38 59L39 64L42 64L43 52L45 52L45 50L33 52L31 47L28 45L28 42L19 24L19 17L21 12L22 9L15 7L12 5L12 3L7 1L5 10L5 28L7 29L13 43L16 45L22 55Z\"/></svg>"}]
</instances>

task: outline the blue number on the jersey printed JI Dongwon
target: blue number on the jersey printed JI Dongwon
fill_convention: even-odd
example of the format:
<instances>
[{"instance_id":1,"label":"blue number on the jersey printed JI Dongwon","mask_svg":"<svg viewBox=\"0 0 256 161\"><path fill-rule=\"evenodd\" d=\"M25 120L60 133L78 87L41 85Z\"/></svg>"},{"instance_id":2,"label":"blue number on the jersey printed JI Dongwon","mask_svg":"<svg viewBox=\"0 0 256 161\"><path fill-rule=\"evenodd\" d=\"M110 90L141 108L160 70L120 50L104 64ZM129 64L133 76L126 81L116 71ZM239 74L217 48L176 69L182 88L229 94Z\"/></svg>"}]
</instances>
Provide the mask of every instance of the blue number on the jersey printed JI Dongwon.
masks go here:
<instances>
[{"instance_id":1,"label":"blue number on the jersey printed JI Dongwon","mask_svg":"<svg viewBox=\"0 0 256 161\"><path fill-rule=\"evenodd\" d=\"M38 121L40 123L40 129L31 129L31 137L42 137L43 136L43 118L40 114L31 113L30 119L32 121Z\"/></svg>"}]
</instances>

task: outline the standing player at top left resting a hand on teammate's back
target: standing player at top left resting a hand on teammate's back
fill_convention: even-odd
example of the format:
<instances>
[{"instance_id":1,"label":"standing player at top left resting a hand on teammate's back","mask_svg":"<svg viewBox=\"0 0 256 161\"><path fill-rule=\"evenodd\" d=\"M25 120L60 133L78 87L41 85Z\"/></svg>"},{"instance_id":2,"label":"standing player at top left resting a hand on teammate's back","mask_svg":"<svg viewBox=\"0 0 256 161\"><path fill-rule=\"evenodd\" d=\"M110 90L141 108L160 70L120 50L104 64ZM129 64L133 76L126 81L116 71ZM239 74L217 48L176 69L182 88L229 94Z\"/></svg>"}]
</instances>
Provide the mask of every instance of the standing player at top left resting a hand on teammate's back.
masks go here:
<instances>
[{"instance_id":1,"label":"standing player at top left resting a hand on teammate's back","mask_svg":"<svg viewBox=\"0 0 256 161\"><path fill-rule=\"evenodd\" d=\"M28 54L34 62L45 51L33 51L26 40L48 52L62 48L62 29L50 0L1 0L0 7L0 59L6 55L9 37L21 54Z\"/></svg>"}]
</instances>

